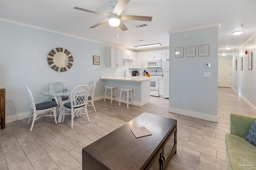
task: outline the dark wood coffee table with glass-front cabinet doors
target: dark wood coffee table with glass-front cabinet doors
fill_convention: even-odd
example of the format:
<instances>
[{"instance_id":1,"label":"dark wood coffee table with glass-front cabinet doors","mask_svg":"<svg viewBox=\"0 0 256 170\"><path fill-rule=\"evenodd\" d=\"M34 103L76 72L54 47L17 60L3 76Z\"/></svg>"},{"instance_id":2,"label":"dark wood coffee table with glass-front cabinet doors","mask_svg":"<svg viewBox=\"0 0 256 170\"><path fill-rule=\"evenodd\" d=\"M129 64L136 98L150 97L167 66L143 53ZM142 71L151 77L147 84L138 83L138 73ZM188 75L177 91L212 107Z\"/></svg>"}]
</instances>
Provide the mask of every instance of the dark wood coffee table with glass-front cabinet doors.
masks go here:
<instances>
[{"instance_id":1,"label":"dark wood coffee table with glass-front cabinet doors","mask_svg":"<svg viewBox=\"0 0 256 170\"><path fill-rule=\"evenodd\" d=\"M136 138L131 128L152 135ZM177 120L142 113L82 149L83 170L164 170L177 149Z\"/></svg>"}]
</instances>

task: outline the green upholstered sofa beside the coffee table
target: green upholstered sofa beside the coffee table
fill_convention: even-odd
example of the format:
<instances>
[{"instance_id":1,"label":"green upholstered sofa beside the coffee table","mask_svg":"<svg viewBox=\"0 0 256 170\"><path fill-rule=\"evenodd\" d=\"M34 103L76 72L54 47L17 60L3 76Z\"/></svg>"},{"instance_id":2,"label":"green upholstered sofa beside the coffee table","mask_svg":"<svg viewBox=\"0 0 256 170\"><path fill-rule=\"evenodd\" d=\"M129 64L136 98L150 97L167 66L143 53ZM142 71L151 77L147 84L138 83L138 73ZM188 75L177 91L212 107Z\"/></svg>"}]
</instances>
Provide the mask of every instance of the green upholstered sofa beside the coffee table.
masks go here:
<instances>
[{"instance_id":1,"label":"green upholstered sofa beside the coffee table","mask_svg":"<svg viewBox=\"0 0 256 170\"><path fill-rule=\"evenodd\" d=\"M226 134L228 170L256 169L256 146L243 137L256 117L230 114L229 134Z\"/></svg>"}]
</instances>

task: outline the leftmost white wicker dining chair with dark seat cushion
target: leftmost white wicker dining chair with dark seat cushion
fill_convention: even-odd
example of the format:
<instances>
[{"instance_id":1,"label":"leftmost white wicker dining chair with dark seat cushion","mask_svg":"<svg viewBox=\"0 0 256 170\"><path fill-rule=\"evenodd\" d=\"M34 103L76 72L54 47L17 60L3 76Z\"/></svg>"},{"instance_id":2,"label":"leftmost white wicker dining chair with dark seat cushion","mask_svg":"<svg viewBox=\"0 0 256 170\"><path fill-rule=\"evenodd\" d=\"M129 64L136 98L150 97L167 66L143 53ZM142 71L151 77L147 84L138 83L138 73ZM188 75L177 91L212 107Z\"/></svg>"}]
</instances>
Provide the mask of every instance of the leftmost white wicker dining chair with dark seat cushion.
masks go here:
<instances>
[{"instance_id":1,"label":"leftmost white wicker dining chair with dark seat cushion","mask_svg":"<svg viewBox=\"0 0 256 170\"><path fill-rule=\"evenodd\" d=\"M34 98L32 96L31 91L29 90L28 86L25 86L26 92L28 94L28 100L30 102L30 116L28 118L28 123L30 122L31 117L33 117L32 125L30 127L30 131L32 131L34 127L34 123L36 119L39 119L42 116L54 116L54 121L57 124L56 119L56 102L49 101L49 102L42 102L39 104L35 104ZM53 112L53 115L51 114ZM47 115L50 113L49 115Z\"/></svg>"}]
</instances>

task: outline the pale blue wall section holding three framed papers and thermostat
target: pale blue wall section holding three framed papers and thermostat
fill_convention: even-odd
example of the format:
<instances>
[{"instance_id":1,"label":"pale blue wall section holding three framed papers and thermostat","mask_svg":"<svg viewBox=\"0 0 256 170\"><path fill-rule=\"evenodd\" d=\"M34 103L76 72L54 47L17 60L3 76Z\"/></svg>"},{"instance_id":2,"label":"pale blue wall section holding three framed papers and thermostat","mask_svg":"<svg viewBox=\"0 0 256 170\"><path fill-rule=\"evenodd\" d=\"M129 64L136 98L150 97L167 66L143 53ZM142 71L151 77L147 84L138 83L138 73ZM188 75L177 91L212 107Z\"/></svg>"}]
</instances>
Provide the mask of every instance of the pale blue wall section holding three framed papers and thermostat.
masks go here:
<instances>
[{"instance_id":1,"label":"pale blue wall section holding three framed papers and thermostat","mask_svg":"<svg viewBox=\"0 0 256 170\"><path fill-rule=\"evenodd\" d=\"M187 35L183 39L182 35ZM169 111L202 119L217 119L218 27L170 34ZM209 45L209 56L198 57L198 46ZM186 57L186 47L196 46L196 57ZM184 47L184 57L175 58L175 48ZM205 68L205 63L212 63ZM211 72L211 77L204 77ZM186 103L183 102L186 98ZM210 116L208 116L210 115Z\"/></svg>"}]
</instances>

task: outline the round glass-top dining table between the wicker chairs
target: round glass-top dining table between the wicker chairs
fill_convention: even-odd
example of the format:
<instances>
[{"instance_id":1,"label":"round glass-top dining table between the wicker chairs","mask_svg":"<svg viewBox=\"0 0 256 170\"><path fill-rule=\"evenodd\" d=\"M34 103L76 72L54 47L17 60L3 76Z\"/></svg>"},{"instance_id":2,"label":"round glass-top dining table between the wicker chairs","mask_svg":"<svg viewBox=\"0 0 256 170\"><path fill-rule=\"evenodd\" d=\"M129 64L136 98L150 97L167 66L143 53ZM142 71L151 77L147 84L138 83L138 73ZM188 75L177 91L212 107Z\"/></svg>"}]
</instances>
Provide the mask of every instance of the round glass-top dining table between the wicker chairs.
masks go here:
<instances>
[{"instance_id":1,"label":"round glass-top dining table between the wicker chairs","mask_svg":"<svg viewBox=\"0 0 256 170\"><path fill-rule=\"evenodd\" d=\"M41 94L44 94L46 96L52 96L52 97L56 97L57 98L57 101L55 101L58 106L60 107L60 113L59 113L59 117L58 117L58 123L61 123L62 121L62 107L63 107L63 102L62 102L62 98L61 96L70 96L71 92L72 92L72 88L68 88L68 90L62 90L62 89L59 89L59 90L44 90L42 92L40 92Z\"/></svg>"}]
</instances>

